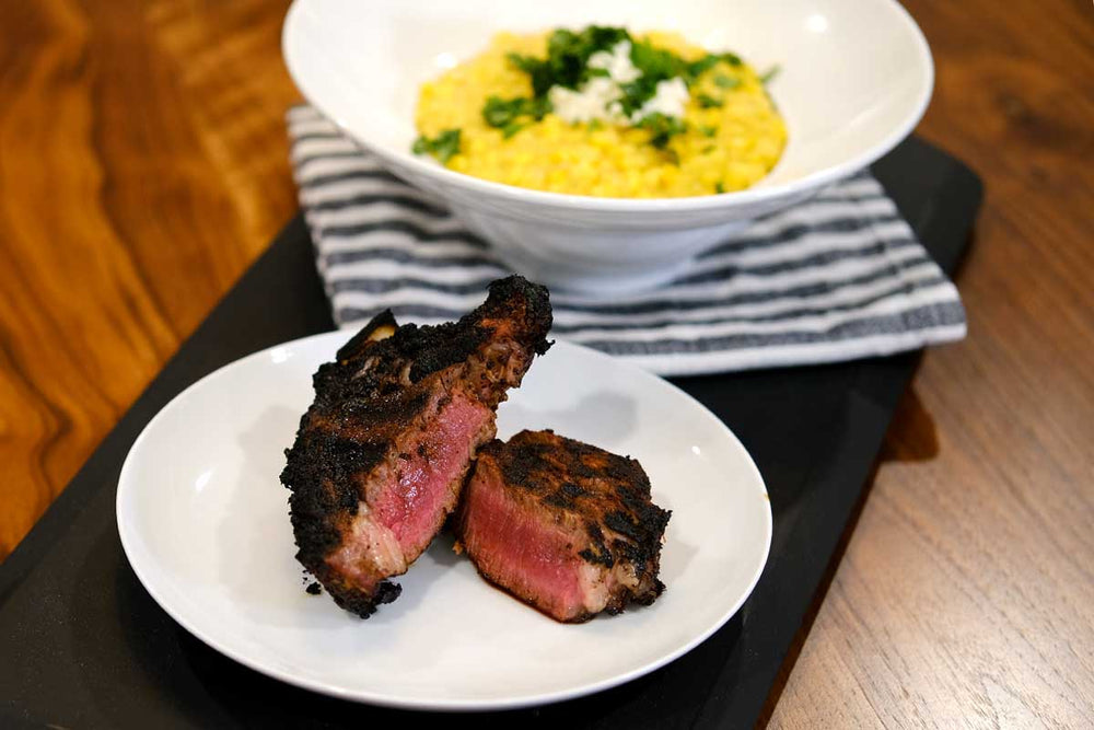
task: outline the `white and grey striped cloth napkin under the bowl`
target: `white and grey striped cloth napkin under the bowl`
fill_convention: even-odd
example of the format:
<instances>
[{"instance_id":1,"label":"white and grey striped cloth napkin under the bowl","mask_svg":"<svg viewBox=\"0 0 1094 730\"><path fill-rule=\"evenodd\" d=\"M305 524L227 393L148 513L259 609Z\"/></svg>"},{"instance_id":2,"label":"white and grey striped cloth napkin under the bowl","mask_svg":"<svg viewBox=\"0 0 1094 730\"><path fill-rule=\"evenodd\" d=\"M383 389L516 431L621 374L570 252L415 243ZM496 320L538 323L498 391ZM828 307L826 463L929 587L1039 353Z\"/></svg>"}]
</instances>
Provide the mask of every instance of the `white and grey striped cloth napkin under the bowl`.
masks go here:
<instances>
[{"instance_id":1,"label":"white and grey striped cloth napkin under the bowl","mask_svg":"<svg viewBox=\"0 0 1094 730\"><path fill-rule=\"evenodd\" d=\"M435 324L508 271L443 202L387 173L315 109L289 112L300 201L335 321ZM552 291L552 334L663 375L891 355L961 339L965 311L869 173L757 220L654 291Z\"/></svg>"}]
</instances>

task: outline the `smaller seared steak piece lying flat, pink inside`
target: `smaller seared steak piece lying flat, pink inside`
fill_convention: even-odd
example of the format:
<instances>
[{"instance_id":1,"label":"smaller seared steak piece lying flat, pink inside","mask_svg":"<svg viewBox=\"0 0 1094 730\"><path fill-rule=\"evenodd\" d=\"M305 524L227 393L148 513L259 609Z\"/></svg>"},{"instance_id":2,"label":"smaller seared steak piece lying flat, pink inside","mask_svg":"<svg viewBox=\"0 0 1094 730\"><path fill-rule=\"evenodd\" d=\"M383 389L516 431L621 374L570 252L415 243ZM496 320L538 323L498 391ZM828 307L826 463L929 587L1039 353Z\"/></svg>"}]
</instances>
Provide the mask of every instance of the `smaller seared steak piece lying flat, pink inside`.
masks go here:
<instances>
[{"instance_id":1,"label":"smaller seared steak piece lying flat, pink inside","mask_svg":"<svg viewBox=\"0 0 1094 730\"><path fill-rule=\"evenodd\" d=\"M577 623L661 595L670 514L650 500L650 479L633 459L552 431L521 431L479 450L455 523L487 580Z\"/></svg>"}]
</instances>

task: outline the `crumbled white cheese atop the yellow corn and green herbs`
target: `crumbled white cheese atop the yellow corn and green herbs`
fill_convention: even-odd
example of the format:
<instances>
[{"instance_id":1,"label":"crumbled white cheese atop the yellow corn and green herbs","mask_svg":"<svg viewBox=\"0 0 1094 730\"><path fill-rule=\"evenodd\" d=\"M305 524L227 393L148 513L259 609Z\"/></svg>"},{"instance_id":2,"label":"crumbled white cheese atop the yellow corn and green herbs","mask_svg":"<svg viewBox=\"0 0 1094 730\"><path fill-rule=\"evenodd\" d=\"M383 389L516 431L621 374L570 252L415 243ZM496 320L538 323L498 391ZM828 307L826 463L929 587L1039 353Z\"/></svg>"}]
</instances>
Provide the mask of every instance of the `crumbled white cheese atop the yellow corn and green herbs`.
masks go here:
<instances>
[{"instance_id":1,"label":"crumbled white cheese atop the yellow corn and green herbs","mask_svg":"<svg viewBox=\"0 0 1094 730\"><path fill-rule=\"evenodd\" d=\"M642 76L630 61L630 42L620 40L610 53L598 50L589 57L589 68L604 69L607 76L593 77L578 90L551 86L548 92L555 115L570 124L587 123L593 119L614 124L638 124L642 117L660 112L665 116L683 117L684 106L689 99L684 79L676 77L659 81L657 88L642 108L630 118L622 113L620 84L630 83Z\"/></svg>"}]
</instances>

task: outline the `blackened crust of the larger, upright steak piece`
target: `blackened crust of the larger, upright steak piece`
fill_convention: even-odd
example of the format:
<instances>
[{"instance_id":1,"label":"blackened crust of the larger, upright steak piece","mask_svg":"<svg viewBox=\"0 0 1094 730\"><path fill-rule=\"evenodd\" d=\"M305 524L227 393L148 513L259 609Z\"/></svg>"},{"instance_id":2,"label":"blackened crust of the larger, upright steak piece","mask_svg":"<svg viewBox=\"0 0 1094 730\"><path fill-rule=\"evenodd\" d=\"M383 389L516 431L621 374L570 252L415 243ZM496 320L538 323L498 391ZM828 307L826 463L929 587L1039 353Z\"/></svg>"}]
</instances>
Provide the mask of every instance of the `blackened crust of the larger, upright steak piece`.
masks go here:
<instances>
[{"instance_id":1,"label":"blackened crust of the larger, upright steak piece","mask_svg":"<svg viewBox=\"0 0 1094 730\"><path fill-rule=\"evenodd\" d=\"M546 288L514 276L491 283L487 301L455 323L398 327L385 311L346 343L334 362L319 367L315 402L286 451L281 482L292 493L296 558L338 605L365 617L400 591L386 578L405 567L391 573L365 570L364 580L334 559L360 540L353 525L362 505L372 519L376 480L393 474L401 479L400 465L415 457L429 463L422 439L439 428L445 408L458 403L465 412L489 412L466 444L466 462L451 474L443 509L430 517L431 538L455 506L476 448L493 436L493 409L520 384L534 355L550 346L545 339L550 325ZM426 545L428 540L404 554L405 563Z\"/></svg>"}]
</instances>

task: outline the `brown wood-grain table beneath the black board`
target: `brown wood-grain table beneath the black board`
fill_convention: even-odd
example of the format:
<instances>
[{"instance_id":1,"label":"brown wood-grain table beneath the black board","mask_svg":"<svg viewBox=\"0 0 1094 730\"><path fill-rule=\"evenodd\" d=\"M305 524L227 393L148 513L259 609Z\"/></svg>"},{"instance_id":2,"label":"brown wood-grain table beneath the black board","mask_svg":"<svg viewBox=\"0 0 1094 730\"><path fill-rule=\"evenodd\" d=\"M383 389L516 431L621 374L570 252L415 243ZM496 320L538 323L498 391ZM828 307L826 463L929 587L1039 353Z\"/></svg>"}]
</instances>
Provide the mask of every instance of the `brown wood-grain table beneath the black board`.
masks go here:
<instances>
[{"instance_id":1,"label":"brown wood-grain table beneath the black board","mask_svg":"<svg viewBox=\"0 0 1094 730\"><path fill-rule=\"evenodd\" d=\"M1094 718L1094 13L907 3L984 177L769 727ZM0 0L0 558L294 212L283 2Z\"/></svg>"}]
</instances>

